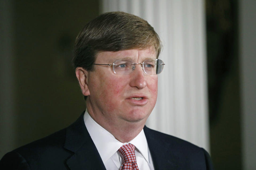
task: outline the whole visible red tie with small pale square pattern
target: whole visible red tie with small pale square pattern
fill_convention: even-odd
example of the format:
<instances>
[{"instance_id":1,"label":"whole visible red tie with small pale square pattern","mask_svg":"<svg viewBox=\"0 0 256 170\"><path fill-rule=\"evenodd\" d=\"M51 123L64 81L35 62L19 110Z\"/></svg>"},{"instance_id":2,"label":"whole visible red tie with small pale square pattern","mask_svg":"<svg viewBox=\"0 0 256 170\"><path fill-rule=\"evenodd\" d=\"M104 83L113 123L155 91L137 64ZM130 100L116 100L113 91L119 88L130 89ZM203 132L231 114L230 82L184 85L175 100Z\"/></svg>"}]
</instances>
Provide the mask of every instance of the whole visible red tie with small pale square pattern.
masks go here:
<instances>
[{"instance_id":1,"label":"whole visible red tie with small pale square pattern","mask_svg":"<svg viewBox=\"0 0 256 170\"><path fill-rule=\"evenodd\" d=\"M135 146L128 143L118 150L119 155L122 157L122 166L120 170L139 170L135 158Z\"/></svg>"}]
</instances>

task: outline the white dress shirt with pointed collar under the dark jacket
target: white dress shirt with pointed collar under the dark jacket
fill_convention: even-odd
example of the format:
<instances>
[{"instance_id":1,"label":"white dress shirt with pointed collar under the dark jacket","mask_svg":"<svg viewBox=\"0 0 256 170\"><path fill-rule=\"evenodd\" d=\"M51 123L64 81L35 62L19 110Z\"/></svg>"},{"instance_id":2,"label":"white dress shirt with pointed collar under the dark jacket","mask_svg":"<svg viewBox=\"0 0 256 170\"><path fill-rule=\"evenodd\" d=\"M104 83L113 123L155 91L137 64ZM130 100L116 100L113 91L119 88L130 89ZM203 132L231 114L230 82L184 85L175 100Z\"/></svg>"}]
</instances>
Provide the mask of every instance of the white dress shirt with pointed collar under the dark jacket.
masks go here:
<instances>
[{"instance_id":1,"label":"white dress shirt with pointed collar under the dark jacket","mask_svg":"<svg viewBox=\"0 0 256 170\"><path fill-rule=\"evenodd\" d=\"M136 147L135 157L139 170L154 170L143 129L130 142L122 143L115 139L115 137L109 133L109 131L95 122L87 110L85 111L83 118L85 121L85 126L93 139L94 145L96 146L107 170L120 169L122 166L122 158L118 153L118 149L127 143L131 143Z\"/></svg>"}]
</instances>

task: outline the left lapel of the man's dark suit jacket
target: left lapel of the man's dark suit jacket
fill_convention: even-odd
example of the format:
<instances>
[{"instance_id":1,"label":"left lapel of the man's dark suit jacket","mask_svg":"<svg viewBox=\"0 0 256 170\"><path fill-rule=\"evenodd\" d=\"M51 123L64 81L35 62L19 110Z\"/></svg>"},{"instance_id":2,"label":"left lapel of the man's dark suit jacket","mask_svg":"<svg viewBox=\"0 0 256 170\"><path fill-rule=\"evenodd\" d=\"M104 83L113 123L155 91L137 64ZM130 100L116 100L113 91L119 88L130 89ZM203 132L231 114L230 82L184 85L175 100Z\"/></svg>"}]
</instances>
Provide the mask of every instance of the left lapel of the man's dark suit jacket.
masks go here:
<instances>
[{"instance_id":1,"label":"left lapel of the man's dark suit jacket","mask_svg":"<svg viewBox=\"0 0 256 170\"><path fill-rule=\"evenodd\" d=\"M71 170L106 169L86 129L83 113L78 120L66 130L64 148L74 152L74 154L67 159L66 164Z\"/></svg>"}]
</instances>

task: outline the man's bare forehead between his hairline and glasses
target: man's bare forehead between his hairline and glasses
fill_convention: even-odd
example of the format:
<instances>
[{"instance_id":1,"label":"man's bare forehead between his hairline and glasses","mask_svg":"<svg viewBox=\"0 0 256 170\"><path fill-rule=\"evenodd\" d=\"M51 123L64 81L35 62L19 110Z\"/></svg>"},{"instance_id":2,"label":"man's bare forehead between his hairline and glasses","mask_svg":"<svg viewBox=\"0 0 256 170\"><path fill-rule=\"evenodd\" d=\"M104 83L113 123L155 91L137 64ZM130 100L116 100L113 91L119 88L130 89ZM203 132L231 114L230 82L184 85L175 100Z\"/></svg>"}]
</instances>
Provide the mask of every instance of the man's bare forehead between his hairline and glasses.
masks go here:
<instances>
[{"instance_id":1,"label":"man's bare forehead between his hairline and glasses","mask_svg":"<svg viewBox=\"0 0 256 170\"><path fill-rule=\"evenodd\" d=\"M99 52L95 62L114 62L115 60L131 60L142 62L149 58L156 58L155 49L151 46L146 49L129 49L120 51Z\"/></svg>"}]
</instances>

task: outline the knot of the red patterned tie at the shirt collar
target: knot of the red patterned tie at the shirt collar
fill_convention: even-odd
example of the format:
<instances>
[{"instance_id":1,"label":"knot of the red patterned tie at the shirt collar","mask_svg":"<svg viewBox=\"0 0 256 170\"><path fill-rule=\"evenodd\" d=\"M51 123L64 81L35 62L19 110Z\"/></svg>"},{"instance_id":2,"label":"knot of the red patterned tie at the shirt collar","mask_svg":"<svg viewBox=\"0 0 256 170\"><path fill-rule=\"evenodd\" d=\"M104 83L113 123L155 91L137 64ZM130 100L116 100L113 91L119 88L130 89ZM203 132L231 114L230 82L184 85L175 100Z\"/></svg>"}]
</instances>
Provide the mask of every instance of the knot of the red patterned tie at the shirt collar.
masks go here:
<instances>
[{"instance_id":1,"label":"knot of the red patterned tie at the shirt collar","mask_svg":"<svg viewBox=\"0 0 256 170\"><path fill-rule=\"evenodd\" d=\"M120 147L118 150L119 155L122 157L122 163L136 162L135 158L135 146L128 143Z\"/></svg>"}]
</instances>

